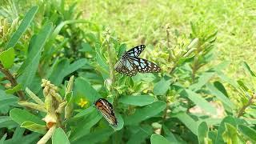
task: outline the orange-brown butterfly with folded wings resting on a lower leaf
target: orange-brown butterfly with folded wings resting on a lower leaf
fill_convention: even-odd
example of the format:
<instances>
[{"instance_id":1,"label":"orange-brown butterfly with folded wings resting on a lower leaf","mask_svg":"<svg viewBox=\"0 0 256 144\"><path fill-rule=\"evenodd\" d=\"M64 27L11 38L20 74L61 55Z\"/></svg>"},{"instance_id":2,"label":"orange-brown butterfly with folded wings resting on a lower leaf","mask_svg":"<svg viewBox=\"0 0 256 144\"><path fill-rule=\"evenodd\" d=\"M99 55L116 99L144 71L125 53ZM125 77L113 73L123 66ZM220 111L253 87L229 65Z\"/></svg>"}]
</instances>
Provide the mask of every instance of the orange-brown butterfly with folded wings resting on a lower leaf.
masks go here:
<instances>
[{"instance_id":1,"label":"orange-brown butterfly with folded wings resting on a lower leaf","mask_svg":"<svg viewBox=\"0 0 256 144\"><path fill-rule=\"evenodd\" d=\"M94 102L94 106L102 113L107 122L109 122L112 126L118 126L118 120L114 115L113 106L110 102L108 102L105 98L99 98L96 102Z\"/></svg>"}]
</instances>

